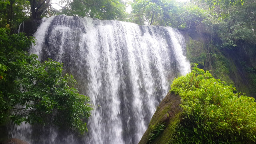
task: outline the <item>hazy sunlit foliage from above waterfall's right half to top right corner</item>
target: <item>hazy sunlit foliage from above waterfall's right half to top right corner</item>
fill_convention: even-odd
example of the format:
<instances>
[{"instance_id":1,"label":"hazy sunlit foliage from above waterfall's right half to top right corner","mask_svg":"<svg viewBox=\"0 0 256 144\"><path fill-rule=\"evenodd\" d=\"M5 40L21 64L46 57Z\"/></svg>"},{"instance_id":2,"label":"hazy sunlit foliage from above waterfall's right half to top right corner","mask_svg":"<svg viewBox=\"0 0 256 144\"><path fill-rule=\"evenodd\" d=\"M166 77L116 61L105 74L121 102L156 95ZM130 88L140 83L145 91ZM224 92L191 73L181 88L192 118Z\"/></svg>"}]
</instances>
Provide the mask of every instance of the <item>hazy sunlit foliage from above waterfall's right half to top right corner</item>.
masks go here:
<instances>
[{"instance_id":1,"label":"hazy sunlit foliage from above waterfall's right half to top right corner","mask_svg":"<svg viewBox=\"0 0 256 144\"><path fill-rule=\"evenodd\" d=\"M255 44L255 14L254 0L136 0L132 4L132 22L208 33L220 39L222 48Z\"/></svg>"}]
</instances>

